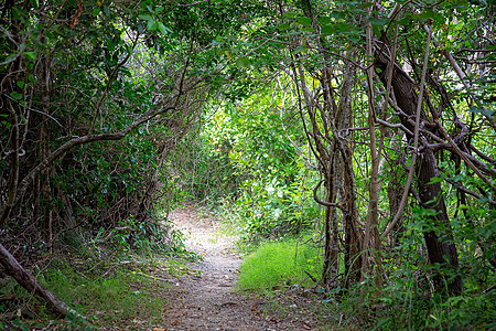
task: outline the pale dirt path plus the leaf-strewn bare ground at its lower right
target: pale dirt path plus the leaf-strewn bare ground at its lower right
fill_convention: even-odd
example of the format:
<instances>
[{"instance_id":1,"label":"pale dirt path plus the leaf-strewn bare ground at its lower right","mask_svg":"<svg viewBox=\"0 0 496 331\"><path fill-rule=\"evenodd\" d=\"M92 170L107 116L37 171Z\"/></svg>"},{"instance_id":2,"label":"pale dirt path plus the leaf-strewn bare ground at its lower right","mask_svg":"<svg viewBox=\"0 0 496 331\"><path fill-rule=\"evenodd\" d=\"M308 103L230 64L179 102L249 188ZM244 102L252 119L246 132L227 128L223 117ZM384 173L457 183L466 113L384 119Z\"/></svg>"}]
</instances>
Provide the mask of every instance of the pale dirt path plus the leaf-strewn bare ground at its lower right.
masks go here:
<instances>
[{"instance_id":1,"label":"pale dirt path plus the leaf-strewn bare ground at its lower right","mask_svg":"<svg viewBox=\"0 0 496 331\"><path fill-rule=\"evenodd\" d=\"M203 260L191 264L177 278L161 330L323 330L325 317L315 298L303 289L276 291L271 298L235 290L240 257L236 237L222 231L220 222L194 205L175 210L171 221L185 235L188 250ZM328 313L328 312L327 312Z\"/></svg>"}]
</instances>

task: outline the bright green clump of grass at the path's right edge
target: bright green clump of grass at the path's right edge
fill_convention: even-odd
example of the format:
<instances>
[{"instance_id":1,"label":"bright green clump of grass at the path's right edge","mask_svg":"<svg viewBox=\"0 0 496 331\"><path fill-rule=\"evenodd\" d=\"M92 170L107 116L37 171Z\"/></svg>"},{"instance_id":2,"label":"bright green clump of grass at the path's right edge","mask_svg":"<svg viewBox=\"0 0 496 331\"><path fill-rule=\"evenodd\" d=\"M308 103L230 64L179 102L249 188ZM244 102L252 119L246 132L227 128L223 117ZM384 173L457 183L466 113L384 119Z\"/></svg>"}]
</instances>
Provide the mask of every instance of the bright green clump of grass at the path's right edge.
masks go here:
<instances>
[{"instance_id":1,"label":"bright green clump of grass at the path's right edge","mask_svg":"<svg viewBox=\"0 0 496 331\"><path fill-rule=\"evenodd\" d=\"M319 278L321 265L317 249L309 244L299 244L296 239L267 242L245 257L238 287L263 292L296 284L311 285L306 273Z\"/></svg>"}]
</instances>

